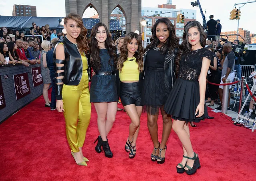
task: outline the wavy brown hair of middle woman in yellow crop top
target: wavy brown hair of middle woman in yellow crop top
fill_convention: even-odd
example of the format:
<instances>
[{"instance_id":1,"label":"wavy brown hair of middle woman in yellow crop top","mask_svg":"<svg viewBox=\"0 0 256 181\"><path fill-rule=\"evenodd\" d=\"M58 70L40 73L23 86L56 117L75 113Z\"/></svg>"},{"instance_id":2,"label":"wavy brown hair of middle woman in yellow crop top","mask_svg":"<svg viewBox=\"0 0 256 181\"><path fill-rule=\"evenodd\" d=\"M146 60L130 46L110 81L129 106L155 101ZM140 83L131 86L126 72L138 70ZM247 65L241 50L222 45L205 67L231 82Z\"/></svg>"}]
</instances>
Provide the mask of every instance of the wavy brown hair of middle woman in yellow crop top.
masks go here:
<instances>
[{"instance_id":1,"label":"wavy brown hair of middle woman in yellow crop top","mask_svg":"<svg viewBox=\"0 0 256 181\"><path fill-rule=\"evenodd\" d=\"M125 36L123 40L123 45L120 48L120 56L117 59L117 70L120 70L120 72L122 72L123 63L128 58L127 44L129 44L133 40L133 38L135 38L138 43L138 50L135 52L133 57L136 58L136 63L138 64L139 72L143 72L143 47L141 43L141 38L137 33L134 32L130 32Z\"/></svg>"}]
</instances>

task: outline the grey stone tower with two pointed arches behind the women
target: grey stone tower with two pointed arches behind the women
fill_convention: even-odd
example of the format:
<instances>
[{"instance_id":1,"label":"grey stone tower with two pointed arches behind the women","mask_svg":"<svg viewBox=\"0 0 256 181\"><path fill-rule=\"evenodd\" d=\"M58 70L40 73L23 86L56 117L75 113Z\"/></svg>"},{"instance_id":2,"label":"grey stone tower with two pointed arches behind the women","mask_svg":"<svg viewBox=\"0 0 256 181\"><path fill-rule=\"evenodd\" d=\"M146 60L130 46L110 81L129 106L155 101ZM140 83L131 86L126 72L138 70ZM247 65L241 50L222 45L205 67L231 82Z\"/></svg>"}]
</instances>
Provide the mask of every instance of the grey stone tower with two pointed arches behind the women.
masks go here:
<instances>
[{"instance_id":1,"label":"grey stone tower with two pointed arches behind the women","mask_svg":"<svg viewBox=\"0 0 256 181\"><path fill-rule=\"evenodd\" d=\"M127 32L140 29L141 0L65 0L66 14L77 13L83 16L86 8L93 6L98 12L101 22L109 27L111 12L120 8L125 14Z\"/></svg>"}]
</instances>

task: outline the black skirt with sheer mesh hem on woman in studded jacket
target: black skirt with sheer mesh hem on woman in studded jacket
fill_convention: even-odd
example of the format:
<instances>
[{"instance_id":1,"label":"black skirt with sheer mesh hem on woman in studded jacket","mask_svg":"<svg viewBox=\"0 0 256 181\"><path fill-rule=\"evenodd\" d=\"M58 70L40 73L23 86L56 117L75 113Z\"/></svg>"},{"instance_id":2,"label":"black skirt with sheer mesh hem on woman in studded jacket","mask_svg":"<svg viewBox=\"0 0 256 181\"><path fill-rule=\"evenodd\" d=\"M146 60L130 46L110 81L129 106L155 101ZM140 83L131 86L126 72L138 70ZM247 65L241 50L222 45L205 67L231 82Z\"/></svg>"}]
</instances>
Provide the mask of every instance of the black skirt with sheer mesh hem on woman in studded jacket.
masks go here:
<instances>
[{"instance_id":1,"label":"black skirt with sheer mesh hem on woman in studded jacket","mask_svg":"<svg viewBox=\"0 0 256 181\"><path fill-rule=\"evenodd\" d=\"M165 101L171 89L165 89L164 70L149 69L145 75L141 93L143 110L151 115L159 112L159 108L165 105Z\"/></svg>"}]
</instances>

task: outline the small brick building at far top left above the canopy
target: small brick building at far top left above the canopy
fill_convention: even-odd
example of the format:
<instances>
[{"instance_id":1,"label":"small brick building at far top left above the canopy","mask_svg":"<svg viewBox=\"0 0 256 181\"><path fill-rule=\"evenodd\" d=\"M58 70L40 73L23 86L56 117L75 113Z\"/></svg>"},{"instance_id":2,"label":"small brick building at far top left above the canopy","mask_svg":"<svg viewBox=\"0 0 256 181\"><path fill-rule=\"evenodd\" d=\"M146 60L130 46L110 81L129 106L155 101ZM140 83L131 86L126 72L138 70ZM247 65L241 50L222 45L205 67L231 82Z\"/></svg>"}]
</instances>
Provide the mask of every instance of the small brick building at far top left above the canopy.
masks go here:
<instances>
[{"instance_id":1,"label":"small brick building at far top left above the canopy","mask_svg":"<svg viewBox=\"0 0 256 181\"><path fill-rule=\"evenodd\" d=\"M14 4L12 16L36 16L36 6Z\"/></svg>"}]
</instances>

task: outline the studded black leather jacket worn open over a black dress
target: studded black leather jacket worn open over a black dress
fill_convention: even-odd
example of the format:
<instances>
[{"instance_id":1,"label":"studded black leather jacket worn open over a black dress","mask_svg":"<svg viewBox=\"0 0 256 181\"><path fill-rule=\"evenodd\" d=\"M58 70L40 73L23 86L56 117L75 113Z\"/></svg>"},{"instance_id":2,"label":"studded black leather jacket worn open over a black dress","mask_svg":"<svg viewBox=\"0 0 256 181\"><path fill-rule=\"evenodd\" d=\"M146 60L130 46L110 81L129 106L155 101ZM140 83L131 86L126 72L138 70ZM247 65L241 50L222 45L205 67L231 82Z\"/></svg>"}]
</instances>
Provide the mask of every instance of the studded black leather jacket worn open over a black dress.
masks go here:
<instances>
[{"instance_id":1,"label":"studded black leather jacket worn open over a black dress","mask_svg":"<svg viewBox=\"0 0 256 181\"><path fill-rule=\"evenodd\" d=\"M145 74L147 74L147 62L146 62L146 56L147 53L151 50L151 48L146 48L144 54L143 54L143 80L145 78ZM178 53L178 48L175 48L174 51L168 50L165 56L165 61L164 61L164 83L165 83L165 88L166 89L171 89L173 87L173 83L176 80L175 76L175 68L174 68L174 59L175 56Z\"/></svg>"}]
</instances>

